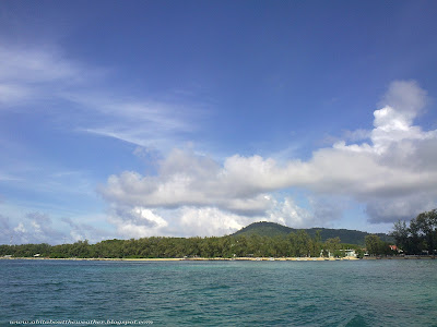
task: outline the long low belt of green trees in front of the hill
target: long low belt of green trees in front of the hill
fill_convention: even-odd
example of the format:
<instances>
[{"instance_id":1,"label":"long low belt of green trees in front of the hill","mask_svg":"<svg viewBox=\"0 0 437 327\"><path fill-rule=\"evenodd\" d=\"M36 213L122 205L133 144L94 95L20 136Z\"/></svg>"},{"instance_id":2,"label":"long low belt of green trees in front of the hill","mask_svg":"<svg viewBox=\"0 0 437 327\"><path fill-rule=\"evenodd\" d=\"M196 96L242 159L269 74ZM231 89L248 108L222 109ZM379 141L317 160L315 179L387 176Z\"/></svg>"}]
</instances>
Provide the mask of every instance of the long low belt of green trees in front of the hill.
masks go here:
<instances>
[{"instance_id":1,"label":"long low belt of green trees in front of the hill","mask_svg":"<svg viewBox=\"0 0 437 327\"><path fill-rule=\"evenodd\" d=\"M281 237L228 235L210 238L153 237L131 240L106 240L96 244L78 241L72 244L0 245L0 256L50 258L176 258L176 257L319 257L344 256L345 249L354 249L363 256L359 245L342 244L340 238L321 241L303 230Z\"/></svg>"}]
</instances>

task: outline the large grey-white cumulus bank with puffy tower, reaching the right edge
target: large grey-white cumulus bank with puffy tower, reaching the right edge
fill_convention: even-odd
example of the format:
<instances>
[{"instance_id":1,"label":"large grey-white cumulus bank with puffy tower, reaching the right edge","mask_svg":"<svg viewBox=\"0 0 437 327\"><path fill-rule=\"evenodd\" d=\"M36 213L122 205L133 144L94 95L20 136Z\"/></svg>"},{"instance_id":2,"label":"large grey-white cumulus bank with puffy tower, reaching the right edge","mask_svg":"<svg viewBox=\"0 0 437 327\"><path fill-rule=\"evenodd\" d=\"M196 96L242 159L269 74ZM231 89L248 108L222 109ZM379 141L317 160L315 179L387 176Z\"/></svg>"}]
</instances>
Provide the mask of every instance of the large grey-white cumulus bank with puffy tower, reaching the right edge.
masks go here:
<instances>
[{"instance_id":1,"label":"large grey-white cumulus bank with puffy tower, reaching the right edge","mask_svg":"<svg viewBox=\"0 0 437 327\"><path fill-rule=\"evenodd\" d=\"M109 177L99 192L114 206L196 208L189 215L179 210L176 223L191 222L194 229L201 223L217 232L216 221L237 229L247 218L263 218L295 227L322 222L324 218L319 216L341 216L338 206L310 203L304 209L292 198L277 201L274 192L287 187L305 189L314 196L351 197L367 206L370 222L412 217L437 199L433 150L437 148L437 131L414 125L425 104L426 93L417 83L393 82L382 108L374 112L374 129L351 132L355 138L366 137L369 142L336 142L315 150L308 161L285 164L239 155L217 162L192 150L175 149L161 161L156 175L126 171ZM139 226L134 219L120 221Z\"/></svg>"}]
</instances>

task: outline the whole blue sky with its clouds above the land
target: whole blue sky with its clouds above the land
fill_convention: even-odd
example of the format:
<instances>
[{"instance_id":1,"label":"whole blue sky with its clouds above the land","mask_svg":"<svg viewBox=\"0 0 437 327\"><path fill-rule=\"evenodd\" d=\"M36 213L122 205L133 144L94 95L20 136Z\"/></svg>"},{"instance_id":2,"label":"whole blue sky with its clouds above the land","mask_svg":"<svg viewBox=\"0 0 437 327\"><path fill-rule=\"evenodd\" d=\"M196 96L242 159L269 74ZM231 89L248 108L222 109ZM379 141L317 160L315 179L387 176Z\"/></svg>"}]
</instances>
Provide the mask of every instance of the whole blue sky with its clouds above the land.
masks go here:
<instances>
[{"instance_id":1,"label":"whole blue sky with its clouds above the land","mask_svg":"<svg viewBox=\"0 0 437 327\"><path fill-rule=\"evenodd\" d=\"M436 1L0 2L0 244L389 232L437 207Z\"/></svg>"}]
</instances>

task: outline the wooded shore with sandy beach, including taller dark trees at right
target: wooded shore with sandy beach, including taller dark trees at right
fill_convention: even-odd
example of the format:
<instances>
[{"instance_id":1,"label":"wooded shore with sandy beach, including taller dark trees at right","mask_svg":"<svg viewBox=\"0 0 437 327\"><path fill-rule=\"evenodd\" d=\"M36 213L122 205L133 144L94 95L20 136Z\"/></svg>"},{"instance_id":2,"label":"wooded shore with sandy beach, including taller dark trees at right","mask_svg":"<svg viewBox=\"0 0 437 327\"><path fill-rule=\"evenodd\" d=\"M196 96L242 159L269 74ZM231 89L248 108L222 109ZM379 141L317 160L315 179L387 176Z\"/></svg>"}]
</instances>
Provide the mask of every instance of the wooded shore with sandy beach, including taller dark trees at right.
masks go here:
<instances>
[{"instance_id":1,"label":"wooded shore with sandy beach, including taller dark trees at right","mask_svg":"<svg viewBox=\"0 0 437 327\"><path fill-rule=\"evenodd\" d=\"M284 234L286 227L273 222L255 222L225 237L106 240L90 244L0 245L3 258L80 258L130 261L336 261L353 258L434 258L437 253L437 209L420 214L410 221L394 223L387 242L377 234L366 234L356 243L342 243L340 237L323 239L321 230L297 230ZM275 233L277 231L281 233ZM246 233L241 232L246 231ZM248 233L248 231L250 231ZM324 230L326 231L326 230ZM344 230L339 230L344 231ZM356 231L355 231L356 232ZM364 246L365 247L364 247Z\"/></svg>"}]
</instances>

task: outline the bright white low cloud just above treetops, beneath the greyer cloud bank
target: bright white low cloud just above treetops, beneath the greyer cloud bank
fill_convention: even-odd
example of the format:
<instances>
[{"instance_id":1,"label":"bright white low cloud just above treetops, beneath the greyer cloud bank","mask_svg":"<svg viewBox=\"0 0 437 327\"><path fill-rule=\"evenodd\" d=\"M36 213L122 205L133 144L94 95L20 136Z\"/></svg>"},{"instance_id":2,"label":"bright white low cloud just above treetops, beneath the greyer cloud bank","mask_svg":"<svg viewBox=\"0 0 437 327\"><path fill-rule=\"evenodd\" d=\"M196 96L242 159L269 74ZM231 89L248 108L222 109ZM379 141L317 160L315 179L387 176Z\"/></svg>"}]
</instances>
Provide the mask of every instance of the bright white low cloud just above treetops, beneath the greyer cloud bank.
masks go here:
<instances>
[{"instance_id":1,"label":"bright white low cloud just above treetops, beneath the greyer cloud bank","mask_svg":"<svg viewBox=\"0 0 437 327\"><path fill-rule=\"evenodd\" d=\"M306 209L292 198L283 201L268 198L269 209L260 215L244 215L217 206L180 206L176 208L145 208L113 204L108 216L123 238L213 237L231 234L253 221L269 220L296 228L317 222Z\"/></svg>"}]
</instances>

